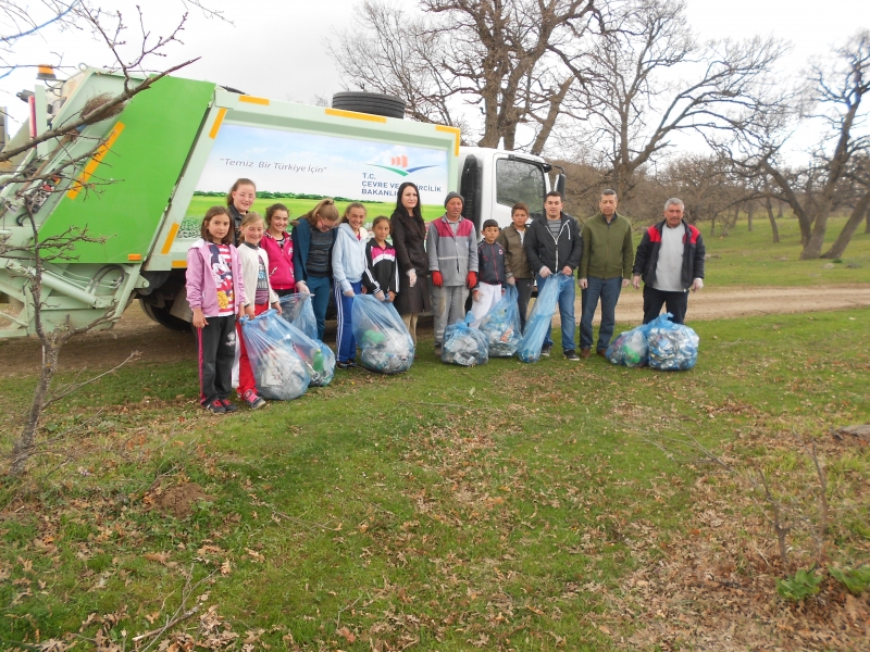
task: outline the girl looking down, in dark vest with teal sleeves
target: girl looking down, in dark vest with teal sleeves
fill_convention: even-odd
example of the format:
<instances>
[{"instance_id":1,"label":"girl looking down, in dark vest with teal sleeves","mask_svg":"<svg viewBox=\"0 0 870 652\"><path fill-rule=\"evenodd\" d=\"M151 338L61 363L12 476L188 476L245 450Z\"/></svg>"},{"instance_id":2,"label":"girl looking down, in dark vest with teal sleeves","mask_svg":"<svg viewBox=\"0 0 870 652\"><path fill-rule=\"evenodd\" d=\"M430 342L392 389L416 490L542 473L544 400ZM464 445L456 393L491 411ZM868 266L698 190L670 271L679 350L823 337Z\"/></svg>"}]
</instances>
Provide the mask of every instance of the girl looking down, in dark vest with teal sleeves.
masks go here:
<instances>
[{"instance_id":1,"label":"girl looking down, in dark vest with teal sleeves","mask_svg":"<svg viewBox=\"0 0 870 652\"><path fill-rule=\"evenodd\" d=\"M293 276L298 292L311 293L311 308L318 322L318 338L323 341L326 309L332 287L333 244L338 226L335 200L321 199L311 211L299 217L293 228Z\"/></svg>"}]
</instances>

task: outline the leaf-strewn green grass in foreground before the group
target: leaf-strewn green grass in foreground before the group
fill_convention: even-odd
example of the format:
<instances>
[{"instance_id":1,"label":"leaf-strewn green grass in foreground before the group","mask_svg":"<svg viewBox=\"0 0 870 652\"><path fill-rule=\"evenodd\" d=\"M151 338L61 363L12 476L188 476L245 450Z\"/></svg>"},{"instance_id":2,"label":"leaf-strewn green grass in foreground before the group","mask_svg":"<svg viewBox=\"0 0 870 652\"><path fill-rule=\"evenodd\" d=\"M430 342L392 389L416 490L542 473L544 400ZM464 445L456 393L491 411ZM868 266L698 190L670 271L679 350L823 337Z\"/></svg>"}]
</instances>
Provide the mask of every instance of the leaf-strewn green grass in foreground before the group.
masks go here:
<instances>
[{"instance_id":1,"label":"leaf-strewn green grass in foreground before the group","mask_svg":"<svg viewBox=\"0 0 870 652\"><path fill-rule=\"evenodd\" d=\"M61 637L91 613L88 637L152 629L192 565L194 579L216 572L196 595L239 645L253 632L272 649L290 636L303 650L614 649L607 591L638 568L638 543L656 560L696 507L697 466L650 441L753 457L761 429L815 436L870 414L870 310L696 326L686 373L557 356L467 369L423 341L408 374L339 372L231 417L195 405L192 365L122 368L51 412L51 432L80 431L3 490L0 639ZM0 381L3 414L29 389ZM836 491L869 468L850 450L832 465ZM149 509L158 487L190 482L207 496L189 516ZM853 507L831 550L848 567L870 542Z\"/></svg>"}]
</instances>

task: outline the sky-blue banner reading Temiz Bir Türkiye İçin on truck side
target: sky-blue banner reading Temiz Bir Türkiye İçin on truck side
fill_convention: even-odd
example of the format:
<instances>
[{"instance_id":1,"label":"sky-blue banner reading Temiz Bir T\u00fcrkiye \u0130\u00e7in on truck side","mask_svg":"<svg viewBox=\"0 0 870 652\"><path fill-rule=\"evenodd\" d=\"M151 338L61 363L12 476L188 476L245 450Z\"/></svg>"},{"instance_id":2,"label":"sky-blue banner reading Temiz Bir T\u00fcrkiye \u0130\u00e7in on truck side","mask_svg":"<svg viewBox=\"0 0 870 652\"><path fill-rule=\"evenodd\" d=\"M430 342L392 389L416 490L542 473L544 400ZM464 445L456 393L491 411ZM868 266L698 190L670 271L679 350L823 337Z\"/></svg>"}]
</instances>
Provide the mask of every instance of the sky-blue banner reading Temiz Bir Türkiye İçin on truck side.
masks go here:
<instances>
[{"instance_id":1,"label":"sky-blue banner reading Temiz Bir T\u00fcrkiye \u0130\u00e7in on truck side","mask_svg":"<svg viewBox=\"0 0 870 652\"><path fill-rule=\"evenodd\" d=\"M224 125L197 192L223 192L239 177L258 192L319 195L395 205L402 181L413 181L424 204L447 193L447 152L322 134Z\"/></svg>"}]
</instances>

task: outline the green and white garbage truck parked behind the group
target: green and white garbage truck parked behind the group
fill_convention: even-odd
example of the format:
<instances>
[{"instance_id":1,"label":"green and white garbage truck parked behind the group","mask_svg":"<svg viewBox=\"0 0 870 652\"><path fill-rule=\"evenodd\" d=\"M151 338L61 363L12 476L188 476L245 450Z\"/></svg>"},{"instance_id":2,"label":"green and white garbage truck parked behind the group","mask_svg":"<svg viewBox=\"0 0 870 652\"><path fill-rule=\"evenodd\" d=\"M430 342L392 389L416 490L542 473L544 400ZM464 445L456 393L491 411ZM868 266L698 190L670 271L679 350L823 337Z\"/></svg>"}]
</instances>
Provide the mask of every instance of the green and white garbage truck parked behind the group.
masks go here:
<instances>
[{"instance_id":1,"label":"green and white garbage truck parked behind the group","mask_svg":"<svg viewBox=\"0 0 870 652\"><path fill-rule=\"evenodd\" d=\"M119 74L85 68L37 87L30 118L7 149L69 124L123 84ZM542 211L546 192L564 188L563 171L539 156L461 147L459 129L402 114L401 100L375 93L336 93L332 106L313 106L166 76L112 117L13 156L0 168L0 337L34 333L23 274L34 263L34 230L42 241L71 228L88 236L72 255L45 265L47 328L100 316L110 327L138 299L154 321L183 329L187 250L204 211L224 204L239 177L294 215L321 197L362 201L370 217L389 215L399 185L411 180L433 218L445 195L459 190L478 227L489 217L508 224L517 201Z\"/></svg>"}]
</instances>

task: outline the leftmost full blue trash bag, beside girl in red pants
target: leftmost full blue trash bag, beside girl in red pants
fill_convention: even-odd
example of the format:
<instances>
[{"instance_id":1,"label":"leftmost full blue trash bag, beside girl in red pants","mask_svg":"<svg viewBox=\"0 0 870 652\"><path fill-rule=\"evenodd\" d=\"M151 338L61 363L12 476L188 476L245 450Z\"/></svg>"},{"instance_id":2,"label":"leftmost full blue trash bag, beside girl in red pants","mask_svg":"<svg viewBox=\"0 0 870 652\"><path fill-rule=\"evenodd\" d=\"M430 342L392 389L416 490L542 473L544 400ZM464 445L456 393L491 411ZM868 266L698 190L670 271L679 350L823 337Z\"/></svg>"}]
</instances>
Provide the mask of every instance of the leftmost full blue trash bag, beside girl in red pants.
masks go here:
<instances>
[{"instance_id":1,"label":"leftmost full blue trash bag, beside girl in red pants","mask_svg":"<svg viewBox=\"0 0 870 652\"><path fill-rule=\"evenodd\" d=\"M241 336L257 381L257 391L264 399L298 399L311 383L306 363L296 352L287 326L271 309L253 318L241 317Z\"/></svg>"}]
</instances>

